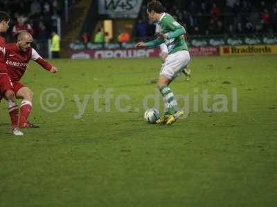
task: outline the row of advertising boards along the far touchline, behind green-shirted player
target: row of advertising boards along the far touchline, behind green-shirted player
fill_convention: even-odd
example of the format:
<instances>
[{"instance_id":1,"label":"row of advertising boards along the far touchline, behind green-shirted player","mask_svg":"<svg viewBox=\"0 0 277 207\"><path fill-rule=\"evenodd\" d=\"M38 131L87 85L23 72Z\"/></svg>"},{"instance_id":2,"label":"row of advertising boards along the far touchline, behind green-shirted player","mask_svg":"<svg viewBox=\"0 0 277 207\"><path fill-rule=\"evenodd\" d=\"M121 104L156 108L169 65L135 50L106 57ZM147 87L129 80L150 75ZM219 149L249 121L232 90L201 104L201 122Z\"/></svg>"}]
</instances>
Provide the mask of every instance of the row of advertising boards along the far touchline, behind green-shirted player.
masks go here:
<instances>
[{"instance_id":1,"label":"row of advertising boards along the far touchline, behind green-shirted player","mask_svg":"<svg viewBox=\"0 0 277 207\"><path fill-rule=\"evenodd\" d=\"M137 42L137 41L134 41ZM240 35L236 37L190 37L190 55L262 55L277 54L274 34ZM87 43L76 41L69 45L72 59L107 59L159 57L159 48L137 49L135 43Z\"/></svg>"}]
</instances>

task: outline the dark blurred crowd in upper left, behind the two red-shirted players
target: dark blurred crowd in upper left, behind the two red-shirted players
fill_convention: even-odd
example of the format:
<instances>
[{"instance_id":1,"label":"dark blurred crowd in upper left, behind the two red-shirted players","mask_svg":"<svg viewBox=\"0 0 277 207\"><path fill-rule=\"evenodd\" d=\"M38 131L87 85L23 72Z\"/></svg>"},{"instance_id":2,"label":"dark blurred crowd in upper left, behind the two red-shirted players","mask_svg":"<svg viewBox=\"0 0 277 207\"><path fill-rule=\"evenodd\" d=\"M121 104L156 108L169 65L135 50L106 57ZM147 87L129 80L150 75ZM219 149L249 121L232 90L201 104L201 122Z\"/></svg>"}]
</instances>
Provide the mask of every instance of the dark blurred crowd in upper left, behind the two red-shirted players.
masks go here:
<instances>
[{"instance_id":1,"label":"dark blurred crowd in upper left, behind the two red-shirted players","mask_svg":"<svg viewBox=\"0 0 277 207\"><path fill-rule=\"evenodd\" d=\"M35 39L48 39L60 16L57 0L1 0L0 8L10 14L11 22L6 39L15 38L21 30L28 30Z\"/></svg>"}]
</instances>

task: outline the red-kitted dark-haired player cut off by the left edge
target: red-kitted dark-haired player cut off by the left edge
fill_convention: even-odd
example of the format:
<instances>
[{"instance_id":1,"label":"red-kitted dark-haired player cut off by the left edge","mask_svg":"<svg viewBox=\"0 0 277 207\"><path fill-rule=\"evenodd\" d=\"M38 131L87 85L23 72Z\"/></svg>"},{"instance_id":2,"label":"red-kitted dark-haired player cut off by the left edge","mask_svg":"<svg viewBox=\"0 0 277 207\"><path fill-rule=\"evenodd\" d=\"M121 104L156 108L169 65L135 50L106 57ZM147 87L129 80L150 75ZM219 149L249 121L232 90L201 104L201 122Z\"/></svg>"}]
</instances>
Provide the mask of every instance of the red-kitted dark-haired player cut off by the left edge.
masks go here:
<instances>
[{"instance_id":1,"label":"red-kitted dark-haired player cut off by the left edge","mask_svg":"<svg viewBox=\"0 0 277 207\"><path fill-rule=\"evenodd\" d=\"M7 32L10 23L10 16L6 12L0 11L0 32ZM12 133L14 135L23 135L17 128L18 113L17 100L15 99L15 92L13 92L12 82L8 76L8 70L5 63L5 39L0 36L0 101L2 98L8 100L8 110L12 116Z\"/></svg>"}]
</instances>

